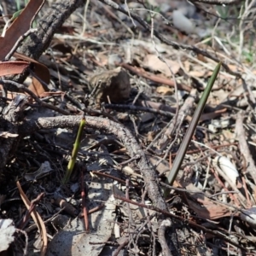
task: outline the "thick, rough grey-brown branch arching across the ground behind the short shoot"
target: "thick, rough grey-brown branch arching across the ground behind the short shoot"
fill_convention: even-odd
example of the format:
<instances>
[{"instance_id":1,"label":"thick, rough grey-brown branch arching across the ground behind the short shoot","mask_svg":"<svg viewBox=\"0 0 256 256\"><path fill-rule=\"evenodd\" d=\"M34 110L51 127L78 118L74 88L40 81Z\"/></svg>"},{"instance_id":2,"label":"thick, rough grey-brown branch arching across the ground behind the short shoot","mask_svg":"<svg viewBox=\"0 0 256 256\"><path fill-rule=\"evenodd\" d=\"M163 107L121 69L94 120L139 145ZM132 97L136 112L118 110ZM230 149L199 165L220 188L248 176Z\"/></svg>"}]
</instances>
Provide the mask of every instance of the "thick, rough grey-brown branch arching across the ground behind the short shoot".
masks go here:
<instances>
[{"instance_id":1,"label":"thick, rough grey-brown branch arching across the ground behind the short shoot","mask_svg":"<svg viewBox=\"0 0 256 256\"><path fill-rule=\"evenodd\" d=\"M166 201L161 195L160 185L158 183L158 178L156 172L154 172L154 167L151 165L146 155L144 154L142 148L139 147L135 137L133 137L131 131L125 128L124 125L115 123L109 119L103 119L100 117L86 116L86 127L99 129L102 131L107 131L108 133L113 133L115 136L119 137L119 140L124 143L128 154L131 158L137 161L137 166L143 174L144 183L148 191L148 197L153 202L154 207L160 208L161 210L168 211L166 207ZM33 131L38 131L40 129L52 129L52 128L64 128L73 127L79 125L81 116L61 116L54 118L38 118L25 121L23 125L20 125L19 134L24 136L31 134ZM172 220L169 219L171 224ZM162 245L163 250L165 247ZM176 231L171 231L171 239L169 243L172 244L172 253L166 252L165 255L178 255L177 253L177 234Z\"/></svg>"}]
</instances>

